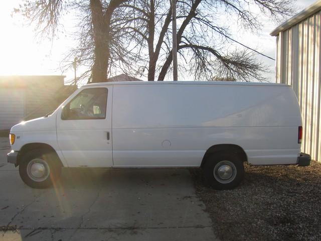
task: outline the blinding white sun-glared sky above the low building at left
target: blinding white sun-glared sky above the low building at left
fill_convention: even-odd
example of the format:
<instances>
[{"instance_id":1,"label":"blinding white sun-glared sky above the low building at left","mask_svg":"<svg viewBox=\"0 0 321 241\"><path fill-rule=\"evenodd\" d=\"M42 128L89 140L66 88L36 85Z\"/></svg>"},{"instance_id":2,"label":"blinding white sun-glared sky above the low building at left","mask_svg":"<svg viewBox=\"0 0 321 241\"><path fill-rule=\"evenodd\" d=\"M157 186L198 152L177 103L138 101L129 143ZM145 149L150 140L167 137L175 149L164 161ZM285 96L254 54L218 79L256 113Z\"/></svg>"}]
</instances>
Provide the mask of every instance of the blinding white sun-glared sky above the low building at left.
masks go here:
<instances>
[{"instance_id":1,"label":"blinding white sun-glared sky above the low building at left","mask_svg":"<svg viewBox=\"0 0 321 241\"><path fill-rule=\"evenodd\" d=\"M13 14L21 1L6 1L0 8L0 75L60 75L59 62L67 40L35 38L34 28L19 14ZM66 73L63 73L66 75Z\"/></svg>"}]
</instances>

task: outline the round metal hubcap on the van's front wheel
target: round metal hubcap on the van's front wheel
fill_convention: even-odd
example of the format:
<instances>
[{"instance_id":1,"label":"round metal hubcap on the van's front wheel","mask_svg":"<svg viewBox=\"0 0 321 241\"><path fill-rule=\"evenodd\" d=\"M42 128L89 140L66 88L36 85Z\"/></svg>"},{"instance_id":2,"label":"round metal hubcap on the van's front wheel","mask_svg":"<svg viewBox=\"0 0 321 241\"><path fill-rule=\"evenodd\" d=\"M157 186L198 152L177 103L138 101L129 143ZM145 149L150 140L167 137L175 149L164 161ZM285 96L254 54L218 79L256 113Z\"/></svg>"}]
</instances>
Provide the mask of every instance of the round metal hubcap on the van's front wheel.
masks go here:
<instances>
[{"instance_id":1,"label":"round metal hubcap on the van's front wheel","mask_svg":"<svg viewBox=\"0 0 321 241\"><path fill-rule=\"evenodd\" d=\"M27 174L30 179L36 182L45 181L50 173L47 162L42 159L33 159L28 163Z\"/></svg>"}]
</instances>

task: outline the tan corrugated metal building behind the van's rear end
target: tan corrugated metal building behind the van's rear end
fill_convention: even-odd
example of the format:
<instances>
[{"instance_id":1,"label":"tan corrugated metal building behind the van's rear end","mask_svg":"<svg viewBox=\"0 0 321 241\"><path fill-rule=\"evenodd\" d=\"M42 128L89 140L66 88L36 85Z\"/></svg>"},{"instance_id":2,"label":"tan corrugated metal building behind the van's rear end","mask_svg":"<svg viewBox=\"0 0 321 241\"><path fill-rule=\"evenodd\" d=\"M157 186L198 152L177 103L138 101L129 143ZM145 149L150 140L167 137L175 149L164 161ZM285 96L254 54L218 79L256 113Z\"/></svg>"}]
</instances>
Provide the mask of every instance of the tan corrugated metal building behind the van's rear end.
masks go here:
<instances>
[{"instance_id":1,"label":"tan corrugated metal building behind the van's rear end","mask_svg":"<svg viewBox=\"0 0 321 241\"><path fill-rule=\"evenodd\" d=\"M302 152L321 161L321 1L271 33L276 36L276 82L292 85L303 122Z\"/></svg>"}]
</instances>

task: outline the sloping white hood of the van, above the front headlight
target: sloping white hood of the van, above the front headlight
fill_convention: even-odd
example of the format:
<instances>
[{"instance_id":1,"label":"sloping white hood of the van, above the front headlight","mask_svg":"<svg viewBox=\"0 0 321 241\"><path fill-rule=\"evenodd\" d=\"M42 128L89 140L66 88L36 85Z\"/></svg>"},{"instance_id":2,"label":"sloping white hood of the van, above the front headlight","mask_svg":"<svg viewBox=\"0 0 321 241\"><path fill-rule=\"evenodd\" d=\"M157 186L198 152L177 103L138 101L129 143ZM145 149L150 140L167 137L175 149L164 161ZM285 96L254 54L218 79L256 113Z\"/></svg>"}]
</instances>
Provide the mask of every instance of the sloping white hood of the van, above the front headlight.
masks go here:
<instances>
[{"instance_id":1,"label":"sloping white hood of the van, above the front headlight","mask_svg":"<svg viewBox=\"0 0 321 241\"><path fill-rule=\"evenodd\" d=\"M56 130L56 116L40 117L21 122L11 128L11 133L15 132L34 132L34 131L53 131Z\"/></svg>"}]
</instances>

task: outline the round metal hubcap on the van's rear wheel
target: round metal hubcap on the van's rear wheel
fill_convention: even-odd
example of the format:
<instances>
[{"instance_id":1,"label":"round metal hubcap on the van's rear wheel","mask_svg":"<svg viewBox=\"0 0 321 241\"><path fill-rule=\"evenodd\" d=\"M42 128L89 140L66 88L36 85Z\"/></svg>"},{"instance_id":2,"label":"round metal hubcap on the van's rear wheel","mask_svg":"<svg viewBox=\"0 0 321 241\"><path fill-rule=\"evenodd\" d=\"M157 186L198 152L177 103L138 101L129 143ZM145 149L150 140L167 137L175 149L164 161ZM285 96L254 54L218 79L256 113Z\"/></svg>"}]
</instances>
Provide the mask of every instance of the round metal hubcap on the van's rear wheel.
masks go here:
<instances>
[{"instance_id":1,"label":"round metal hubcap on the van's rear wheel","mask_svg":"<svg viewBox=\"0 0 321 241\"><path fill-rule=\"evenodd\" d=\"M230 183L236 177L236 167L230 161L220 161L214 167L213 175L220 183Z\"/></svg>"}]
</instances>

